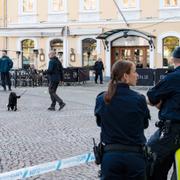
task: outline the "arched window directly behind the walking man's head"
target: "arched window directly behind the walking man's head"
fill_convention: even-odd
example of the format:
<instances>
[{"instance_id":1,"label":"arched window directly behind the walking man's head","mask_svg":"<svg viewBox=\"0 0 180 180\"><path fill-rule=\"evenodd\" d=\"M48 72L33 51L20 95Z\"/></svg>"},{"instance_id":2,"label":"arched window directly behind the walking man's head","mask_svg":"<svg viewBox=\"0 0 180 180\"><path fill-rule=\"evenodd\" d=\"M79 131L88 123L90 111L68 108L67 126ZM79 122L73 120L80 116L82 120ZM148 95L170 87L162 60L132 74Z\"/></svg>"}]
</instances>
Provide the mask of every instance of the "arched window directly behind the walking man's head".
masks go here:
<instances>
[{"instance_id":1,"label":"arched window directly behind the walking man's head","mask_svg":"<svg viewBox=\"0 0 180 180\"><path fill-rule=\"evenodd\" d=\"M63 41L61 39L51 40L50 49L55 51L60 61L63 62Z\"/></svg>"}]
</instances>

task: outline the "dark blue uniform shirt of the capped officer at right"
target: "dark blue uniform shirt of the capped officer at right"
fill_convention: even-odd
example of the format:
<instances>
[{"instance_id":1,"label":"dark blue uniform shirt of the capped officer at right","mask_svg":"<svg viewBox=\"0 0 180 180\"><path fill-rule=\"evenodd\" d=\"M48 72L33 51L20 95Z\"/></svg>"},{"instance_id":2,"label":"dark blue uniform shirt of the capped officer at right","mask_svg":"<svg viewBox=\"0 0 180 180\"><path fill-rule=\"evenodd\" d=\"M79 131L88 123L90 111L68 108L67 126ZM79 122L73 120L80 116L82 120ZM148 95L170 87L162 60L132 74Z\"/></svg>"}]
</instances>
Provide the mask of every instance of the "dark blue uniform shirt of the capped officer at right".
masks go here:
<instances>
[{"instance_id":1,"label":"dark blue uniform shirt of the capped officer at right","mask_svg":"<svg viewBox=\"0 0 180 180\"><path fill-rule=\"evenodd\" d=\"M147 92L147 96L153 105L162 100L159 119L180 123L180 67L167 74Z\"/></svg>"}]
</instances>

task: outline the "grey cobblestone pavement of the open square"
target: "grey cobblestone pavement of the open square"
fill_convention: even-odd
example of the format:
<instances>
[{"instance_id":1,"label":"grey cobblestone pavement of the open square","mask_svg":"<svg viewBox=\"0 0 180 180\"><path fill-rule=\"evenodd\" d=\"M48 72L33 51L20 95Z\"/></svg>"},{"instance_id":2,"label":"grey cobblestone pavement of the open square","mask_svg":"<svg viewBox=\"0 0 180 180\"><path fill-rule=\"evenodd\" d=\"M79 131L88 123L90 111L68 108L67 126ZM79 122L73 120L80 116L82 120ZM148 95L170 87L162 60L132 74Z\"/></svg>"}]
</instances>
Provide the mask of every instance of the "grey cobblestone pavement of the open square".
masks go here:
<instances>
[{"instance_id":1,"label":"grey cobblestone pavement of the open square","mask_svg":"<svg viewBox=\"0 0 180 180\"><path fill-rule=\"evenodd\" d=\"M92 151L92 138L99 139L99 128L93 116L96 95L105 85L59 87L57 93L66 102L61 111L47 108L50 98L47 87L16 88L18 111L8 112L9 92L0 88L0 173L41 163L68 158ZM135 88L145 94L147 88ZM58 107L57 107L58 108ZM157 110L151 108L152 120L147 137L154 131ZM32 180L96 180L98 167L94 163L63 169Z\"/></svg>"}]
</instances>

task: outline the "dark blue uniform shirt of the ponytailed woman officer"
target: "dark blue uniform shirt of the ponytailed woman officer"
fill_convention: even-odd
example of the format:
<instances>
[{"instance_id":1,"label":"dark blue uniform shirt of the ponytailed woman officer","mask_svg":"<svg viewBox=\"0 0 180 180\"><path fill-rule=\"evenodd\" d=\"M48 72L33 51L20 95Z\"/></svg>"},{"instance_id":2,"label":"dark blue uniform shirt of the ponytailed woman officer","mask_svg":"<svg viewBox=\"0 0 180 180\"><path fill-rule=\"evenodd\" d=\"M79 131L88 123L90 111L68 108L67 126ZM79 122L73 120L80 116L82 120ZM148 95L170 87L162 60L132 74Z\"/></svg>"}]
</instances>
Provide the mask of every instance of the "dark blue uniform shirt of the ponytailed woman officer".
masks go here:
<instances>
[{"instance_id":1,"label":"dark blue uniform shirt of the ponytailed woman officer","mask_svg":"<svg viewBox=\"0 0 180 180\"><path fill-rule=\"evenodd\" d=\"M150 118L143 95L127 84L118 84L109 104L104 94L97 96L95 115L101 119L101 137L105 144L142 145L146 142L144 128Z\"/></svg>"}]
</instances>

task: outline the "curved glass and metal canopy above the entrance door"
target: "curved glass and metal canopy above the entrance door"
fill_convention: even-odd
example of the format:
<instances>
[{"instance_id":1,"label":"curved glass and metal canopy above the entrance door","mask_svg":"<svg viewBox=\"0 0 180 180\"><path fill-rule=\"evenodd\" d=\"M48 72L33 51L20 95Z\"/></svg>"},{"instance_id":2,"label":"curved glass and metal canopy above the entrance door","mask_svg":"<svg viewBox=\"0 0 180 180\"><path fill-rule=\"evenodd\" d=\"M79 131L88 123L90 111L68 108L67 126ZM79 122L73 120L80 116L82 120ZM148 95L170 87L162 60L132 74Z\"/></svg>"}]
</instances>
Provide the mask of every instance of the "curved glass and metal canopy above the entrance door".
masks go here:
<instances>
[{"instance_id":1,"label":"curved glass and metal canopy above the entrance door","mask_svg":"<svg viewBox=\"0 0 180 180\"><path fill-rule=\"evenodd\" d=\"M110 41L113 42L118 38L127 38L128 36L142 37L149 42L151 48L155 48L153 43L153 39L155 38L155 36L151 35L148 32L139 31L136 29L113 29L98 35L96 38L103 40L104 45L108 49L108 44Z\"/></svg>"}]
</instances>

